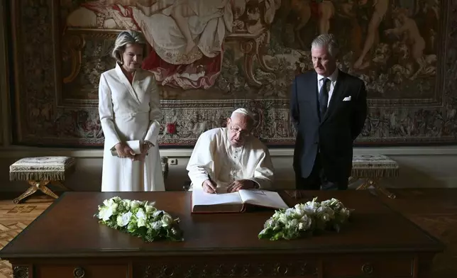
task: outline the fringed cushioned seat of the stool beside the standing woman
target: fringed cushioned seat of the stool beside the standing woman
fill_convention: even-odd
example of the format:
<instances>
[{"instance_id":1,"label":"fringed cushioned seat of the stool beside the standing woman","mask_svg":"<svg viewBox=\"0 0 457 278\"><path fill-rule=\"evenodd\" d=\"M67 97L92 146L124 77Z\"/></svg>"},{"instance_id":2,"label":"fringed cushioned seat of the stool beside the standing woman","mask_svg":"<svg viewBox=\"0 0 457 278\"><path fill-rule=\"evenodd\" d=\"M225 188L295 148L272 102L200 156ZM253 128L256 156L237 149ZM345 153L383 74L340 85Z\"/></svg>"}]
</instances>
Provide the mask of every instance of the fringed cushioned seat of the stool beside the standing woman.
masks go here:
<instances>
[{"instance_id":1,"label":"fringed cushioned seat of the stool beside the standing woman","mask_svg":"<svg viewBox=\"0 0 457 278\"><path fill-rule=\"evenodd\" d=\"M65 175L75 171L73 157L24 157L9 167L10 181L54 180L64 181Z\"/></svg>"}]
</instances>

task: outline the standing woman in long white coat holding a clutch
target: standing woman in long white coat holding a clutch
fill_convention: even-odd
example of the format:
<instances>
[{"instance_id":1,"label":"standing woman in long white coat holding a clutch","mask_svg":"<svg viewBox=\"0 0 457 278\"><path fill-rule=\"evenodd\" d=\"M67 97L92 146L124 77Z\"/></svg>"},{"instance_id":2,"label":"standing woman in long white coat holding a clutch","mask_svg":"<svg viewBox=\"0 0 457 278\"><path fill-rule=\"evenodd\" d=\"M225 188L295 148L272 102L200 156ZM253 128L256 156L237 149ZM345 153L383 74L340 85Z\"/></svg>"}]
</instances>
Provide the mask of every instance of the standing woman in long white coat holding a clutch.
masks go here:
<instances>
[{"instance_id":1,"label":"standing woman in long white coat holding a clutch","mask_svg":"<svg viewBox=\"0 0 457 278\"><path fill-rule=\"evenodd\" d=\"M157 145L160 96L154 75L141 69L145 50L141 33L119 33L112 52L116 67L100 76L101 191L165 191ZM140 140L141 154L126 144L132 140ZM117 155L111 155L113 148Z\"/></svg>"}]
</instances>

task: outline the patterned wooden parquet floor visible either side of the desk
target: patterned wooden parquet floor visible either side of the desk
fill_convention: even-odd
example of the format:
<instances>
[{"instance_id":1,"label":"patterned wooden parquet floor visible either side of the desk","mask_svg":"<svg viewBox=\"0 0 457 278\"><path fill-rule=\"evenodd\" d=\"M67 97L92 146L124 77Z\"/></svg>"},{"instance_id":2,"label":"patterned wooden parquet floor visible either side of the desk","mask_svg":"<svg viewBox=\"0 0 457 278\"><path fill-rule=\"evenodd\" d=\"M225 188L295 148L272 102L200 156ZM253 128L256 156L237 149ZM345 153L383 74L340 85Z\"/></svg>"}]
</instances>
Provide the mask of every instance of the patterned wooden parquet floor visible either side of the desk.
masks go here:
<instances>
[{"instance_id":1,"label":"patterned wooden parquet floor visible either side of the desk","mask_svg":"<svg viewBox=\"0 0 457 278\"><path fill-rule=\"evenodd\" d=\"M380 197L446 244L445 252L435 257L432 278L457 277L457 189L397 189L392 192L397 199ZM0 248L51 204L48 199L39 197L20 205L13 204L11 199L0 200ZM0 278L6 277L12 277L11 265L0 261Z\"/></svg>"}]
</instances>

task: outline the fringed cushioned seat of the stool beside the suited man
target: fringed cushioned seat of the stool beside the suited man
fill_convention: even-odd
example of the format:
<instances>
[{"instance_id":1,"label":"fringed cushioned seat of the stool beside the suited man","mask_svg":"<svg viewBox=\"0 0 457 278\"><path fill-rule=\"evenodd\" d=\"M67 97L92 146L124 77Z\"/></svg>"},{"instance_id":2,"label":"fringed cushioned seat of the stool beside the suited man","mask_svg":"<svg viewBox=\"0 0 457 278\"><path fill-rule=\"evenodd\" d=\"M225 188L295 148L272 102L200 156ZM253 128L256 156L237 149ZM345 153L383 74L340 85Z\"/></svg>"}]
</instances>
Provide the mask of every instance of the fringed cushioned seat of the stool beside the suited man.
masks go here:
<instances>
[{"instance_id":1,"label":"fringed cushioned seat of the stool beside the suited man","mask_svg":"<svg viewBox=\"0 0 457 278\"><path fill-rule=\"evenodd\" d=\"M352 177L397 177L399 165L385 155L354 155Z\"/></svg>"}]
</instances>

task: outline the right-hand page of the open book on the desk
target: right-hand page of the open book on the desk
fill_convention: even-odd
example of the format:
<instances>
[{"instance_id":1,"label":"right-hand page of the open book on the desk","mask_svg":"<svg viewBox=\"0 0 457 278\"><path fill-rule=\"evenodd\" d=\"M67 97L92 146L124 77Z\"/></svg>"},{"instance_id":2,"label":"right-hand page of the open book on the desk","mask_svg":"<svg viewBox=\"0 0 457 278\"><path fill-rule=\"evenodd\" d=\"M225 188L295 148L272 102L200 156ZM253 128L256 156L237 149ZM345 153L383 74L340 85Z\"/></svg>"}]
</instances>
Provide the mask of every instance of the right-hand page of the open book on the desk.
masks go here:
<instances>
[{"instance_id":1,"label":"right-hand page of the open book on the desk","mask_svg":"<svg viewBox=\"0 0 457 278\"><path fill-rule=\"evenodd\" d=\"M270 208L289 208L282 200L280 194L275 191L241 189L238 192L243 203L268 206Z\"/></svg>"}]
</instances>

